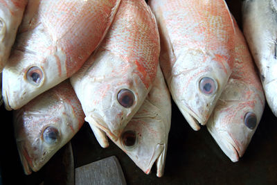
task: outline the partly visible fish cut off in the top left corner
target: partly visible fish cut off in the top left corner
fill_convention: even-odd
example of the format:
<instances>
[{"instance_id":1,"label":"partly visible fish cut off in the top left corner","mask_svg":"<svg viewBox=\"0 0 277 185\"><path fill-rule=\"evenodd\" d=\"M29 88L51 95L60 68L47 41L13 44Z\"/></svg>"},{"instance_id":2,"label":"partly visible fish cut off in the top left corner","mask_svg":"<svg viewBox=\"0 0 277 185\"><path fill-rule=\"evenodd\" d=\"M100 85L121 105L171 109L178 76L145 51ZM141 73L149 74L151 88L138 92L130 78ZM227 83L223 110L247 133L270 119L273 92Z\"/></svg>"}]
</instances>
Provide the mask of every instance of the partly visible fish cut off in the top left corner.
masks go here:
<instances>
[{"instance_id":1,"label":"partly visible fish cut off in the top left corner","mask_svg":"<svg viewBox=\"0 0 277 185\"><path fill-rule=\"evenodd\" d=\"M27 0L0 1L0 72L8 62L27 2Z\"/></svg>"}]
</instances>

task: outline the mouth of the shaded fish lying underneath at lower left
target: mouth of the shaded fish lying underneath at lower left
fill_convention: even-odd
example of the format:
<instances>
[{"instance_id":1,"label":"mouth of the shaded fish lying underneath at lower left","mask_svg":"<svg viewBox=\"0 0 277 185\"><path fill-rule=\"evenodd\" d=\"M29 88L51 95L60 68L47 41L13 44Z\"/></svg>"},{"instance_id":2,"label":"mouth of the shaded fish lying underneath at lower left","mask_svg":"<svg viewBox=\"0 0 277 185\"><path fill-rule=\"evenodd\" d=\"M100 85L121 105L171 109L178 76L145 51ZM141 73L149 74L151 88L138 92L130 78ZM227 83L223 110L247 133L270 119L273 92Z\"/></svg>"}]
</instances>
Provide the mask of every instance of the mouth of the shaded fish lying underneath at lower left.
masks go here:
<instances>
[{"instance_id":1,"label":"mouth of the shaded fish lying underneath at lower left","mask_svg":"<svg viewBox=\"0 0 277 185\"><path fill-rule=\"evenodd\" d=\"M30 164L32 164L32 159L28 155L28 152L26 148L24 148L22 143L17 143L17 149L19 152L19 157L21 159L21 164L23 166L24 173L26 175L30 175L32 173L32 167Z\"/></svg>"}]
</instances>

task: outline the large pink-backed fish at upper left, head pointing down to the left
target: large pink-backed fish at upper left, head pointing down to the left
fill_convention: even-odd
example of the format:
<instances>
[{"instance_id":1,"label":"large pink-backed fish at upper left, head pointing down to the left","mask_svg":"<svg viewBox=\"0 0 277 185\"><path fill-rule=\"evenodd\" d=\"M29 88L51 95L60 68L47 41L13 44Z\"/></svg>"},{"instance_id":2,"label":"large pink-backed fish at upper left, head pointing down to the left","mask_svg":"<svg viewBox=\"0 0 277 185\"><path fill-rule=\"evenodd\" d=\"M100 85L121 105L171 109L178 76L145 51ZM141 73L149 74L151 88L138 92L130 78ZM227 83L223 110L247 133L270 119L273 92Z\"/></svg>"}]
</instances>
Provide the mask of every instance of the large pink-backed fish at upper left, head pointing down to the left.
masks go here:
<instances>
[{"instance_id":1,"label":"large pink-backed fish at upper left, head pointing down to the left","mask_svg":"<svg viewBox=\"0 0 277 185\"><path fill-rule=\"evenodd\" d=\"M73 75L100 44L120 0L29 0L3 69L8 110Z\"/></svg>"}]
</instances>

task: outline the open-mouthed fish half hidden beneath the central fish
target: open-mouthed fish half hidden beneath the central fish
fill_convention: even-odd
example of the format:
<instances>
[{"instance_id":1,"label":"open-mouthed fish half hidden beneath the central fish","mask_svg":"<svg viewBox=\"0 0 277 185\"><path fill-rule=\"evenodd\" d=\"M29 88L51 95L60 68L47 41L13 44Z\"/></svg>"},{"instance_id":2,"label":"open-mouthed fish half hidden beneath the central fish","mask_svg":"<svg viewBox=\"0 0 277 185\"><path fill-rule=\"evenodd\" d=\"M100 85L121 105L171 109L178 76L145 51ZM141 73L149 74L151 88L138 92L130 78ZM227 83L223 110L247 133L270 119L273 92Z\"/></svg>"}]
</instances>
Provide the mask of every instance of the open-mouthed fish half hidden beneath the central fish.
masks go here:
<instances>
[{"instance_id":1,"label":"open-mouthed fish half hidden beneath the central fish","mask_svg":"<svg viewBox=\"0 0 277 185\"><path fill-rule=\"evenodd\" d=\"M170 93L158 67L157 78L143 105L127 123L119 139L111 139L146 174L156 162L157 177L163 176L171 112Z\"/></svg>"}]
</instances>

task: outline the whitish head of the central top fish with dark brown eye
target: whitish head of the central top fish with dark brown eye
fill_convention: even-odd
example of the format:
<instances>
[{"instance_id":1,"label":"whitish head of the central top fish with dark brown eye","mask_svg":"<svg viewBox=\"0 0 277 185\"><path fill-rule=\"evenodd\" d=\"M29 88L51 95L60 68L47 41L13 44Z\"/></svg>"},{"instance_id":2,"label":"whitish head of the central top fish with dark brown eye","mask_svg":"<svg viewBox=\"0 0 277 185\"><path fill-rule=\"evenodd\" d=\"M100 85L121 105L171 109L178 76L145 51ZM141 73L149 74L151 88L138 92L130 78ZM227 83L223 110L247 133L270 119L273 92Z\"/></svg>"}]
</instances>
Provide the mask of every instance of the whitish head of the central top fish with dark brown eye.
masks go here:
<instances>
[{"instance_id":1,"label":"whitish head of the central top fish with dark brown eye","mask_svg":"<svg viewBox=\"0 0 277 185\"><path fill-rule=\"evenodd\" d=\"M85 75L73 76L71 84L82 103L85 120L116 140L150 87L145 87L131 62L106 51L91 60L93 64Z\"/></svg>"}]
</instances>

